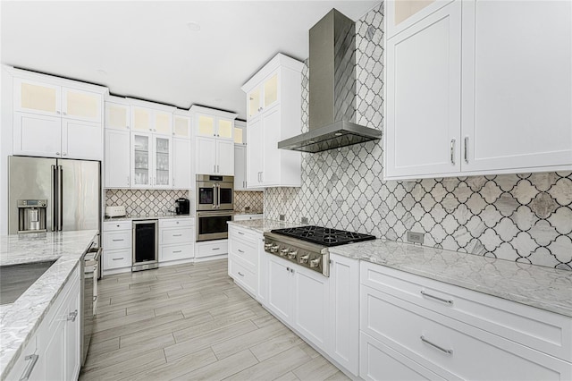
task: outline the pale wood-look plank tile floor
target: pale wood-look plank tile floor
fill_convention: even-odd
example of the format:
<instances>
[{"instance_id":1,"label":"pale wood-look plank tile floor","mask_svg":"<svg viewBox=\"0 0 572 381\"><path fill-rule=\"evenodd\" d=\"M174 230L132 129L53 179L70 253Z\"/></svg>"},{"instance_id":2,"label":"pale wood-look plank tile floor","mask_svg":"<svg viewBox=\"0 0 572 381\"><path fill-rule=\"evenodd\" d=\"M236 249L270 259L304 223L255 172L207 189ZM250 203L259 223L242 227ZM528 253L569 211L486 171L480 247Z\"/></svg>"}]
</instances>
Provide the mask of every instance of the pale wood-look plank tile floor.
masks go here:
<instances>
[{"instance_id":1,"label":"pale wood-look plank tile floor","mask_svg":"<svg viewBox=\"0 0 572 381\"><path fill-rule=\"evenodd\" d=\"M227 261L105 276L80 380L347 380L227 275Z\"/></svg>"}]
</instances>

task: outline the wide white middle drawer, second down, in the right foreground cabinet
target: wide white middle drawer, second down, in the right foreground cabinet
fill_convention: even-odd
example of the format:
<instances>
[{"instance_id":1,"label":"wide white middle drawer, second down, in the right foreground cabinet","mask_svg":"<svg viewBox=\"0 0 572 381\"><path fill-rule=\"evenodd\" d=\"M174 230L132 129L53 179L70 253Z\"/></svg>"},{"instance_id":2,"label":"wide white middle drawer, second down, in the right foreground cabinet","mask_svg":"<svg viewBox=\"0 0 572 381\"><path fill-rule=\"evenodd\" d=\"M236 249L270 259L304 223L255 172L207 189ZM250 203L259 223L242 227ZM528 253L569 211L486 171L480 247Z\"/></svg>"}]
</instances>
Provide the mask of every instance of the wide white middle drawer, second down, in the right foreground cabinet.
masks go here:
<instances>
[{"instance_id":1,"label":"wide white middle drawer, second down, in the right foreground cabinet","mask_svg":"<svg viewBox=\"0 0 572 381\"><path fill-rule=\"evenodd\" d=\"M361 330L447 379L566 380L572 364L361 286Z\"/></svg>"}]
</instances>

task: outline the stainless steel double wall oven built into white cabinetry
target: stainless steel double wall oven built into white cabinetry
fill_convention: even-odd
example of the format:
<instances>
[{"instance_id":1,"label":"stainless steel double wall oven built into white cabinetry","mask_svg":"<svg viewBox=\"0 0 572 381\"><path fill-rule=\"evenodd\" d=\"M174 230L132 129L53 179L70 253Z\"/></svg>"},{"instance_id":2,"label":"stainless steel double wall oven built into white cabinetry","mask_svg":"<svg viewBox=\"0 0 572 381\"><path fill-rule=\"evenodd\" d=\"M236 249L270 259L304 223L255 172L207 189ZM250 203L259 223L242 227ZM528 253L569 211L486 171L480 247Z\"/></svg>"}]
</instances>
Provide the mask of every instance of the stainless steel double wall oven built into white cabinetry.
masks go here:
<instances>
[{"instance_id":1,"label":"stainless steel double wall oven built into white cabinetry","mask_svg":"<svg viewBox=\"0 0 572 381\"><path fill-rule=\"evenodd\" d=\"M234 177L197 175L197 241L228 238L234 210Z\"/></svg>"}]
</instances>

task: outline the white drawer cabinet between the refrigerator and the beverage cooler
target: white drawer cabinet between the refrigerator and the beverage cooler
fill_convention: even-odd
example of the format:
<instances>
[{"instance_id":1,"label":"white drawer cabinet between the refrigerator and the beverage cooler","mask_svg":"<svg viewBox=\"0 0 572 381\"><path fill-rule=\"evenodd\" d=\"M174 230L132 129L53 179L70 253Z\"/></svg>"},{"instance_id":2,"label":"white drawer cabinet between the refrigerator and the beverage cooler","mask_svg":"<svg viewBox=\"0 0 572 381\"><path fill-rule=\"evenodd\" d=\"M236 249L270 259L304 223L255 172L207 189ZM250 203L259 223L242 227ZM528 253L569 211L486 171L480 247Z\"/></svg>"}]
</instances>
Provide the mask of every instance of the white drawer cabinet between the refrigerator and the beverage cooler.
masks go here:
<instances>
[{"instance_id":1,"label":"white drawer cabinet between the refrigerator and the beverage cooler","mask_svg":"<svg viewBox=\"0 0 572 381\"><path fill-rule=\"evenodd\" d=\"M104 222L103 274L110 275L131 270L132 222Z\"/></svg>"}]
</instances>

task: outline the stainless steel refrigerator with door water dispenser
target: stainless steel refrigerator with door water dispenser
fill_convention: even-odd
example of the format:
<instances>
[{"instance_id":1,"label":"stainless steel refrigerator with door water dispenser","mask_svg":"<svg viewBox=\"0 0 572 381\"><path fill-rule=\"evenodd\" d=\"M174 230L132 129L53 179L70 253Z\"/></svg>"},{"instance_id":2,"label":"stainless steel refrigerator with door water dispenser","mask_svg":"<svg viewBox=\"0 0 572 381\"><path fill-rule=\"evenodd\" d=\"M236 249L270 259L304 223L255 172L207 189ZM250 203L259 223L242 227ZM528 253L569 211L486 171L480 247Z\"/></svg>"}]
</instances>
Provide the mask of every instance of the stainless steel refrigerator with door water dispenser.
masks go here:
<instances>
[{"instance_id":1,"label":"stainless steel refrigerator with door water dispenser","mask_svg":"<svg viewBox=\"0 0 572 381\"><path fill-rule=\"evenodd\" d=\"M45 214L47 232L100 230L99 162L9 157L8 176L8 233L21 231L21 209L38 200L34 208ZM38 212L30 216L38 218Z\"/></svg>"}]
</instances>

